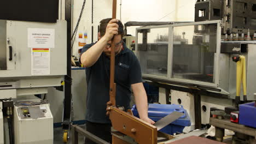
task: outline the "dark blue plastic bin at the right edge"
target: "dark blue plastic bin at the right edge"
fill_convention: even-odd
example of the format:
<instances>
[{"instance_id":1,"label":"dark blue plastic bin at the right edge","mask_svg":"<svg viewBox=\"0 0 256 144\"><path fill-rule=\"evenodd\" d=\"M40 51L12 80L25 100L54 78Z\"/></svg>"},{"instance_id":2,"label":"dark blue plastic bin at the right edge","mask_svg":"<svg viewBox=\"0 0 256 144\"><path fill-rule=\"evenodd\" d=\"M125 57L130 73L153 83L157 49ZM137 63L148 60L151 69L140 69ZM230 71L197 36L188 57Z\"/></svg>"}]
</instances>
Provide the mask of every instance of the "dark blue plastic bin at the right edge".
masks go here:
<instances>
[{"instance_id":1,"label":"dark blue plastic bin at the right edge","mask_svg":"<svg viewBox=\"0 0 256 144\"><path fill-rule=\"evenodd\" d=\"M239 105L239 124L256 128L256 107L254 102Z\"/></svg>"}]
</instances>

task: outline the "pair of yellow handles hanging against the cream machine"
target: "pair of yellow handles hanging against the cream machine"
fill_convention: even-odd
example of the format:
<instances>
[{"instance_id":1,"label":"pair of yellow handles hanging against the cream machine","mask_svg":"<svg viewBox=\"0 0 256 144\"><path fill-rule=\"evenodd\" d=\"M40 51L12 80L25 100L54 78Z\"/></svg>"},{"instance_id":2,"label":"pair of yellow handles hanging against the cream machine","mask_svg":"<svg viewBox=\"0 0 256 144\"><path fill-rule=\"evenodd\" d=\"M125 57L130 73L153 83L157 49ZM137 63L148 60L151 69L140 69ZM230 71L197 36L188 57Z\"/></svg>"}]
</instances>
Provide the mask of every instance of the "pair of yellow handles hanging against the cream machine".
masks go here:
<instances>
[{"instance_id":1,"label":"pair of yellow handles hanging against the cream machine","mask_svg":"<svg viewBox=\"0 0 256 144\"><path fill-rule=\"evenodd\" d=\"M241 82L243 83L243 95L246 95L246 62L245 56L240 56L236 63L236 96L240 96Z\"/></svg>"}]
</instances>

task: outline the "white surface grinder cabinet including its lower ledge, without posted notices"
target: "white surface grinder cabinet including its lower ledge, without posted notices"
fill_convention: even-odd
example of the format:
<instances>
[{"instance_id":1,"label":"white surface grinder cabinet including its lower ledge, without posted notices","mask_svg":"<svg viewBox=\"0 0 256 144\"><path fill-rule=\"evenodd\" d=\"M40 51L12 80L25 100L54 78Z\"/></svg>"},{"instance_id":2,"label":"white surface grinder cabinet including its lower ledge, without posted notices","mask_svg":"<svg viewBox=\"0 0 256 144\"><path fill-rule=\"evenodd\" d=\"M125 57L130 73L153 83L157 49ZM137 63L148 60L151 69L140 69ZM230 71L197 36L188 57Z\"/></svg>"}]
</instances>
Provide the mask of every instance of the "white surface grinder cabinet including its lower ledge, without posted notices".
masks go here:
<instances>
[{"instance_id":1,"label":"white surface grinder cabinet including its lower ledge, without posted notices","mask_svg":"<svg viewBox=\"0 0 256 144\"><path fill-rule=\"evenodd\" d=\"M5 52L5 55L0 55L0 89L17 89L17 95L26 95L47 93L47 87L61 86L63 75L67 73L65 20L56 23L0 20L0 26L0 50ZM49 49L49 75L32 75L32 48L27 44L28 28L54 29L54 48ZM13 51L11 60L10 46Z\"/></svg>"}]
</instances>

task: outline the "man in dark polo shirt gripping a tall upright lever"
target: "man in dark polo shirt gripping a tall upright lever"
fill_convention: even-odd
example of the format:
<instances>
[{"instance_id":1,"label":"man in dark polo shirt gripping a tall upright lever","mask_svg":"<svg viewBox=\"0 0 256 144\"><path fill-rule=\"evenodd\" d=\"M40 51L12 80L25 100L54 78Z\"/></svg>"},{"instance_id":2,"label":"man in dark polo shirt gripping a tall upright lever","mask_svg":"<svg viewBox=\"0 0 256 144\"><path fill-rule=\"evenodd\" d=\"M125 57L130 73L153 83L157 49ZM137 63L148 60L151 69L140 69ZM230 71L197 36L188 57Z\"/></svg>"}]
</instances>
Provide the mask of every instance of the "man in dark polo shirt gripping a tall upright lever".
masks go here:
<instances>
[{"instance_id":1,"label":"man in dark polo shirt gripping a tall upright lever","mask_svg":"<svg viewBox=\"0 0 256 144\"><path fill-rule=\"evenodd\" d=\"M114 47L110 47L113 36ZM123 42L124 26L117 19L100 22L99 40L83 47L80 61L86 67L87 110L86 130L108 142L111 141L111 122L106 115L109 101L110 51L115 51L116 104L130 109L131 90L141 119L154 124L148 118L147 95L142 84L141 68L134 53ZM88 139L86 144L94 143Z\"/></svg>"}]
</instances>

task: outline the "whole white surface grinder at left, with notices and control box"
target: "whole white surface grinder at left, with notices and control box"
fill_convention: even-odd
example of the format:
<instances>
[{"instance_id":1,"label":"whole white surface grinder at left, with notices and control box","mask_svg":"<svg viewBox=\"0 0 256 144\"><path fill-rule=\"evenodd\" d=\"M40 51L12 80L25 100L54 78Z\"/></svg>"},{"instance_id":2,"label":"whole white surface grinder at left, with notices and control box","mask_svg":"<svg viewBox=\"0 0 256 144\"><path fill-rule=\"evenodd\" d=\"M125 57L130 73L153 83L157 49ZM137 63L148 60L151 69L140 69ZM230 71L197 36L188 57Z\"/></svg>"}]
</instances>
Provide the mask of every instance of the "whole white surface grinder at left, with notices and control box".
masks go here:
<instances>
[{"instance_id":1,"label":"whole white surface grinder at left, with notices and control box","mask_svg":"<svg viewBox=\"0 0 256 144\"><path fill-rule=\"evenodd\" d=\"M49 104L27 97L61 86L67 74L66 29L65 20L0 20L0 143L53 143ZM7 121L9 127L3 126Z\"/></svg>"}]
</instances>

